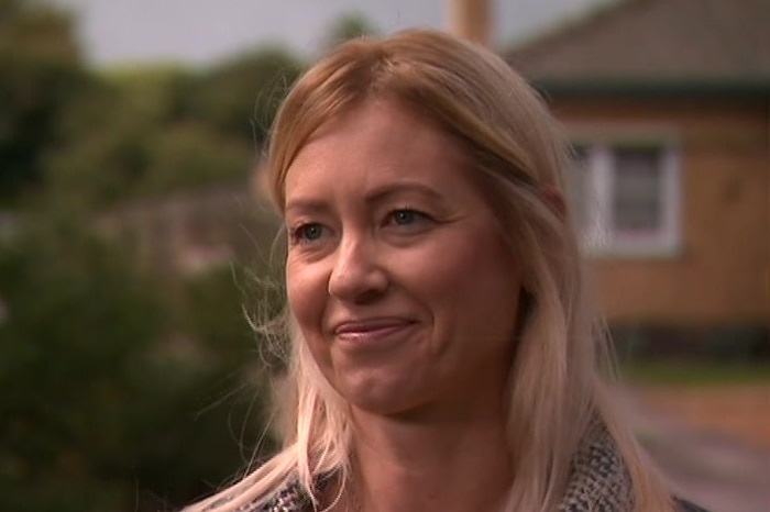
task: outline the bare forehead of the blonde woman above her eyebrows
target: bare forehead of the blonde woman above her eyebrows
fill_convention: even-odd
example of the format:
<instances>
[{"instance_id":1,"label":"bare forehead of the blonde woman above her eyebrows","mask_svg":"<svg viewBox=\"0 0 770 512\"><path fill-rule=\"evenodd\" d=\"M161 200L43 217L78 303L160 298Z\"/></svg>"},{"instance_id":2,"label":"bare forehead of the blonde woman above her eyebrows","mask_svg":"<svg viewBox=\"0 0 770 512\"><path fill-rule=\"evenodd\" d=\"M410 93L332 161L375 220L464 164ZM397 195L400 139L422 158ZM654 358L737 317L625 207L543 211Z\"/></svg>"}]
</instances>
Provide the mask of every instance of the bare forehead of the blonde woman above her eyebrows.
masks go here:
<instances>
[{"instance_id":1,"label":"bare forehead of the blonde woman above her eyebrows","mask_svg":"<svg viewBox=\"0 0 770 512\"><path fill-rule=\"evenodd\" d=\"M435 189L468 188L458 140L393 102L372 101L326 125L286 174L287 204L336 189L355 193L400 180Z\"/></svg>"}]
</instances>

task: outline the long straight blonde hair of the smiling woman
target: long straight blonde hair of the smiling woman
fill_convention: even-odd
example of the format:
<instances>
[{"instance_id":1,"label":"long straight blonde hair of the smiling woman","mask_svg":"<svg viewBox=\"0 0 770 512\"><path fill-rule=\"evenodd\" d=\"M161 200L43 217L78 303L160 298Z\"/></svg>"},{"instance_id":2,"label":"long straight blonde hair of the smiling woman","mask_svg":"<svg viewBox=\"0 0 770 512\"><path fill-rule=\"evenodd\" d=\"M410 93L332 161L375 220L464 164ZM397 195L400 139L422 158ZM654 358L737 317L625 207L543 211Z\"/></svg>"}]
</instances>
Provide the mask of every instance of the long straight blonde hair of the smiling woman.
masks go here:
<instances>
[{"instance_id":1,"label":"long straight blonde hair of the smiling woman","mask_svg":"<svg viewBox=\"0 0 770 512\"><path fill-rule=\"evenodd\" d=\"M623 455L638 512L671 510L668 489L645 460L630 428L613 412L597 365L603 336L586 300L570 209L563 191L566 146L542 101L503 59L435 31L355 40L308 70L289 92L272 130L267 171L283 211L286 171L326 123L370 100L395 101L458 138L474 179L525 265L526 318L510 368L508 442L516 454L506 510L551 511L570 464L598 418ZM515 312L512 312L515 314ZM290 331L290 330L289 330ZM234 511L296 480L314 494L318 478L350 477L351 434L341 398L321 376L299 333L289 332L293 387L285 447L240 482L200 503Z\"/></svg>"}]
</instances>

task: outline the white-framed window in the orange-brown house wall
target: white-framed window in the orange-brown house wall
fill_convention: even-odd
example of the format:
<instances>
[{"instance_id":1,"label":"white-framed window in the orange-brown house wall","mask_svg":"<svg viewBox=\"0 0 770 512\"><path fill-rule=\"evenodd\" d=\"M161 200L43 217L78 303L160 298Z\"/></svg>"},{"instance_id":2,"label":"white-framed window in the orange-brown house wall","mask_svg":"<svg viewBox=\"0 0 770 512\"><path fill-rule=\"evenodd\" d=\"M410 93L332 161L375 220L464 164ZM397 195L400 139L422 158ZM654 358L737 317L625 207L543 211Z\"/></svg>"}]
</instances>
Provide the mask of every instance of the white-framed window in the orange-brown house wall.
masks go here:
<instances>
[{"instance_id":1,"label":"white-framed window in the orange-brown house wall","mask_svg":"<svg viewBox=\"0 0 770 512\"><path fill-rule=\"evenodd\" d=\"M578 144L570 182L591 255L667 256L679 246L679 154L672 144Z\"/></svg>"}]
</instances>

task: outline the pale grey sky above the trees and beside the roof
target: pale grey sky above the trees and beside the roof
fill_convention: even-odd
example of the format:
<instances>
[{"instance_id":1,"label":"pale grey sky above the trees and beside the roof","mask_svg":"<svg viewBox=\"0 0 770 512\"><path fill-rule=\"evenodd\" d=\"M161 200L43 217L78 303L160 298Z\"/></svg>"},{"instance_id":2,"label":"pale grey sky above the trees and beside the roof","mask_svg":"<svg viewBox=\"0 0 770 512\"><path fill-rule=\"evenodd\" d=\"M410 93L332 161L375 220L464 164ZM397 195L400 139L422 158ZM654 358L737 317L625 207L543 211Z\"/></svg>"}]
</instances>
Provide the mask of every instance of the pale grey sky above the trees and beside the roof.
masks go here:
<instances>
[{"instance_id":1,"label":"pale grey sky above the trees and beside the roof","mask_svg":"<svg viewBox=\"0 0 770 512\"><path fill-rule=\"evenodd\" d=\"M76 13L96 65L175 60L208 65L263 44L318 53L341 15L384 33L446 27L447 0L54 0ZM496 47L579 16L607 0L492 0Z\"/></svg>"}]
</instances>

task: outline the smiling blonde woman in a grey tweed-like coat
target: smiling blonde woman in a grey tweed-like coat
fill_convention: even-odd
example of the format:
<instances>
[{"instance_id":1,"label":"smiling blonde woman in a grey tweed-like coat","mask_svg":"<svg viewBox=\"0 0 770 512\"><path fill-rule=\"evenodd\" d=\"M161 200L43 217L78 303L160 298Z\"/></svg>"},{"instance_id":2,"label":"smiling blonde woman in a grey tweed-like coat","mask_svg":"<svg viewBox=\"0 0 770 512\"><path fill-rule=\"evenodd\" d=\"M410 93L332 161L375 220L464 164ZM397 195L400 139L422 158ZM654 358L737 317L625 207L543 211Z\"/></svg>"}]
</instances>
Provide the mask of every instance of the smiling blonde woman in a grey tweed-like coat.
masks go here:
<instances>
[{"instance_id":1,"label":"smiling blonde woman in a grey tweed-like coat","mask_svg":"<svg viewBox=\"0 0 770 512\"><path fill-rule=\"evenodd\" d=\"M597 376L565 148L492 53L338 47L268 154L288 234L284 449L191 510L696 510Z\"/></svg>"}]
</instances>

